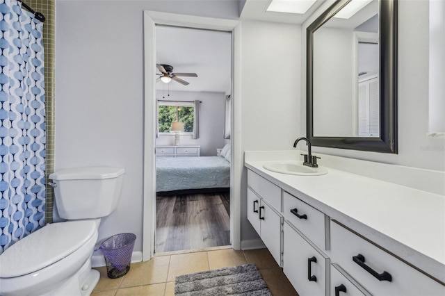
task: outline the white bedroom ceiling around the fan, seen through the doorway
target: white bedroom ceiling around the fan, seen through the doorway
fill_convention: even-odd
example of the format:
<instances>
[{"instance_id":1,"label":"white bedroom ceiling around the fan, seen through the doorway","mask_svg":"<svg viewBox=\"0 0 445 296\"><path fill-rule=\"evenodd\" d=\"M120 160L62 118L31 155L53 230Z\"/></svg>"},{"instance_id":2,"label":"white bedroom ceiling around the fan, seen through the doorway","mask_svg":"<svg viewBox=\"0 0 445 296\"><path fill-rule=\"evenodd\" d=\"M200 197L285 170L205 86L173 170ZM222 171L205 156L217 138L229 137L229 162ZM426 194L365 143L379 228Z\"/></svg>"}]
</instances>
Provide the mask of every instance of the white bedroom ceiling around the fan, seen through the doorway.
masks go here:
<instances>
[{"instance_id":1,"label":"white bedroom ceiling around the fan, seen through the doorway","mask_svg":"<svg viewBox=\"0 0 445 296\"><path fill-rule=\"evenodd\" d=\"M174 67L173 72L197 77L156 83L156 90L230 92L232 34L229 32L156 26L156 63ZM156 73L160 73L159 70Z\"/></svg>"}]
</instances>

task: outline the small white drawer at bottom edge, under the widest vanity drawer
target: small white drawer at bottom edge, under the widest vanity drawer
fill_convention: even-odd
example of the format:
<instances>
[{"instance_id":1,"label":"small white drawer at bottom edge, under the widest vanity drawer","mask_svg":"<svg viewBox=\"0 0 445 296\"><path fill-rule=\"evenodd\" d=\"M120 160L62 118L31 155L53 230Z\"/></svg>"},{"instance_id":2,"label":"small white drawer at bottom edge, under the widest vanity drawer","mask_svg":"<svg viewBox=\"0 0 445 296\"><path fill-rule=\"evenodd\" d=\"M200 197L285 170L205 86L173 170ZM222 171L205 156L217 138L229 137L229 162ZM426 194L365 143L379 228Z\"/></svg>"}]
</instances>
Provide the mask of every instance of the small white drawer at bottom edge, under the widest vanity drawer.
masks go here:
<instances>
[{"instance_id":1,"label":"small white drawer at bottom edge, under the widest vanity drawer","mask_svg":"<svg viewBox=\"0 0 445 296\"><path fill-rule=\"evenodd\" d=\"M331 264L331 296L371 296L337 264Z\"/></svg>"}]
</instances>

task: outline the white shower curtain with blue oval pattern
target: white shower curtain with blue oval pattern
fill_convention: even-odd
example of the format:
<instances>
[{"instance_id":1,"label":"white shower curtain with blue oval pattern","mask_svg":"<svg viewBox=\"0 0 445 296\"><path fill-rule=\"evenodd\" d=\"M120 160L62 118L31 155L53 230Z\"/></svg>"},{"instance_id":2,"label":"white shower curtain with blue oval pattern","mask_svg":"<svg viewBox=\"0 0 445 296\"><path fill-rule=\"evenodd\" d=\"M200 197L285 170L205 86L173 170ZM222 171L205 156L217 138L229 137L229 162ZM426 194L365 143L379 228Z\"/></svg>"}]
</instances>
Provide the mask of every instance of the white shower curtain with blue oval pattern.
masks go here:
<instances>
[{"instance_id":1,"label":"white shower curtain with blue oval pattern","mask_svg":"<svg viewBox=\"0 0 445 296\"><path fill-rule=\"evenodd\" d=\"M44 225L42 23L0 0L0 254Z\"/></svg>"}]
</instances>

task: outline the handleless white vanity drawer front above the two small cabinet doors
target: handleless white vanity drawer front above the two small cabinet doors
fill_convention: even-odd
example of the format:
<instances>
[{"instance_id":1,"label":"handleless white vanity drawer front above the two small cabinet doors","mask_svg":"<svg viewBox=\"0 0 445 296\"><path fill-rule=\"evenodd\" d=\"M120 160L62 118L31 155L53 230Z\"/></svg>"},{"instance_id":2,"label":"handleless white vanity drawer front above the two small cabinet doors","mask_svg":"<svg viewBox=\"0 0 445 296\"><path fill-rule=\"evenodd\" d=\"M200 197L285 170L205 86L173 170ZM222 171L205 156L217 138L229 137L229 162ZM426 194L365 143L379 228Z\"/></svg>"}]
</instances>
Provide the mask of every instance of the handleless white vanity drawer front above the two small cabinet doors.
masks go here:
<instances>
[{"instance_id":1,"label":"handleless white vanity drawer front above the two small cabinet doors","mask_svg":"<svg viewBox=\"0 0 445 296\"><path fill-rule=\"evenodd\" d=\"M248 186L257 192L260 197L266 199L275 210L281 211L281 188L267 181L262 176L248 170Z\"/></svg>"}]
</instances>

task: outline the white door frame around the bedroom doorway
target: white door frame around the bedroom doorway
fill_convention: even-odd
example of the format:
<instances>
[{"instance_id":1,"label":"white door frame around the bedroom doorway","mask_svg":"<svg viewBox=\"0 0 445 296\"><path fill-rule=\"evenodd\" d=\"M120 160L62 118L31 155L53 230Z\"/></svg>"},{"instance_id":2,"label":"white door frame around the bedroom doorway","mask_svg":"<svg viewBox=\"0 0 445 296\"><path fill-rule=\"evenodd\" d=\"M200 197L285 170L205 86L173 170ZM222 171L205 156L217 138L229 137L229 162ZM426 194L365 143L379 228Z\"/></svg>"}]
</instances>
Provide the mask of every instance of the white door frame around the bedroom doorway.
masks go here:
<instances>
[{"instance_id":1,"label":"white door frame around the bedroom doorway","mask_svg":"<svg viewBox=\"0 0 445 296\"><path fill-rule=\"evenodd\" d=\"M143 261L154 256L156 231L156 24L202 28L232 33L232 124L230 169L230 241L241 249L241 24L233 19L215 19L144 11L144 172L143 172Z\"/></svg>"}]
</instances>

